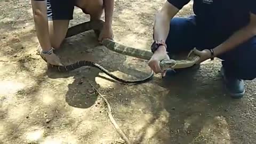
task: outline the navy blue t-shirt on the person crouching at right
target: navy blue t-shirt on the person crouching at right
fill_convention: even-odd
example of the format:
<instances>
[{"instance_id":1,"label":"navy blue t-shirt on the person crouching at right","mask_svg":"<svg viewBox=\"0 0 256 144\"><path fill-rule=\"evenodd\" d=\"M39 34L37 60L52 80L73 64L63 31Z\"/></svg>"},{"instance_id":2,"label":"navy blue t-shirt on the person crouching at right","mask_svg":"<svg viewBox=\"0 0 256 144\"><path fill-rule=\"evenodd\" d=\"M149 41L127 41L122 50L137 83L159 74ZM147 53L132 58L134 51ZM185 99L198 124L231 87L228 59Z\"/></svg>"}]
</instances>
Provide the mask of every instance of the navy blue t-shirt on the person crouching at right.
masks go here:
<instances>
[{"instance_id":1,"label":"navy blue t-shirt on the person crouching at right","mask_svg":"<svg viewBox=\"0 0 256 144\"><path fill-rule=\"evenodd\" d=\"M167 0L182 9L190 0ZM194 0L193 11L199 29L209 34L231 34L247 25L250 12L256 14L256 0Z\"/></svg>"}]
</instances>

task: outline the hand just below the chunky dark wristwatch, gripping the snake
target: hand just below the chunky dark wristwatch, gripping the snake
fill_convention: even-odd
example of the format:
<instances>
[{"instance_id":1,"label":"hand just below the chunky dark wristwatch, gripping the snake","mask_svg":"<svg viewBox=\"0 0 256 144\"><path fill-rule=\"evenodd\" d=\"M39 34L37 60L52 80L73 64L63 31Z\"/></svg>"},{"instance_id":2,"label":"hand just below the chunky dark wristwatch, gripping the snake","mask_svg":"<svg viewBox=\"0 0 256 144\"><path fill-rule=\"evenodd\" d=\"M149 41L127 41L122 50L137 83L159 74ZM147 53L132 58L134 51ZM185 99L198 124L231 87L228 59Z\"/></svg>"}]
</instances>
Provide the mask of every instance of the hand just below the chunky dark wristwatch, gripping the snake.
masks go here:
<instances>
[{"instance_id":1,"label":"hand just below the chunky dark wristwatch, gripping the snake","mask_svg":"<svg viewBox=\"0 0 256 144\"><path fill-rule=\"evenodd\" d=\"M159 63L161 60L167 59L169 60L169 55L166 52L165 46L159 46L158 49L155 51L153 56L148 61L148 66L157 74L161 73L162 77L165 76L166 70L162 70Z\"/></svg>"}]
</instances>

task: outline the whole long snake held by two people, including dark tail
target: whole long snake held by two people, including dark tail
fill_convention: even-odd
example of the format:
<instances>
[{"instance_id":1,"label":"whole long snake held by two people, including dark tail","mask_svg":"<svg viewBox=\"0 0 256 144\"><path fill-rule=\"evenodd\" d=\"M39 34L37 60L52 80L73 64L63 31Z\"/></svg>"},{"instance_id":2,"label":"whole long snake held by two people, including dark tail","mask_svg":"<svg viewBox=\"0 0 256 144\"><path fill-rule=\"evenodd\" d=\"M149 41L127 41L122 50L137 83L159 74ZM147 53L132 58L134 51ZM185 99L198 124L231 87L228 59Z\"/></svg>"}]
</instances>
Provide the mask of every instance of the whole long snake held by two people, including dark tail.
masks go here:
<instances>
[{"instance_id":1,"label":"whole long snake held by two people, including dark tail","mask_svg":"<svg viewBox=\"0 0 256 144\"><path fill-rule=\"evenodd\" d=\"M79 25L75 25L73 27L68 28L66 38L77 35L79 33L83 33L84 31L88 31L88 30L94 30L94 33L97 36L99 36L100 31L103 28L103 24L104 24L104 22L102 20L96 20L96 21L87 21L87 22L83 22ZM102 45L104 45L105 47L107 47L107 49L109 49L111 51L121 53L124 55L129 55L129 56L135 57L135 58L145 59L145 60L149 60L153 55L153 53L151 51L136 49L131 46L119 44L112 39L103 39ZM39 49L37 52L39 53ZM46 61L45 58L43 58L43 59ZM189 57L185 60L173 60L173 59L162 60L159 63L159 65L163 70L187 68L187 67L194 66L195 62L198 59L199 59L199 57L197 55L189 54ZM67 66L54 66L54 65L50 65L50 66L52 68L56 68L59 72L71 71L71 70L74 70L74 69L77 69L77 68L80 68L83 66L91 66L91 67L100 69L101 71L103 71L103 73L105 73L108 76L116 79L119 82L123 82L123 83L143 83L143 82L148 81L149 79L151 79L154 76L154 72L151 71L151 74L149 76L147 76L146 78L142 78L142 79L135 80L135 81L127 81L127 80L118 78L115 75L111 74L107 69L101 67L98 63L94 63L92 61L84 61L84 60L77 61L76 63L67 65Z\"/></svg>"}]
</instances>

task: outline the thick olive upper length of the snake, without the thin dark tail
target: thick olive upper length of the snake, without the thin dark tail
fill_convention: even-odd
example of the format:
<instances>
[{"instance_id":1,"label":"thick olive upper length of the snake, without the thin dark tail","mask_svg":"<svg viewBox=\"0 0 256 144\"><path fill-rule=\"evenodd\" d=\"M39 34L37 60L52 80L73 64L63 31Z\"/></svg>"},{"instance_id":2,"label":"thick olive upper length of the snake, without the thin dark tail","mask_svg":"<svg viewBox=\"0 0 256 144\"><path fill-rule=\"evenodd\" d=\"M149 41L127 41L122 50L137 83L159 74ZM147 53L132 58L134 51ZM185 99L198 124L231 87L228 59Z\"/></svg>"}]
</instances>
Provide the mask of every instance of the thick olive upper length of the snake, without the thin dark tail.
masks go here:
<instances>
[{"instance_id":1,"label":"thick olive upper length of the snake, without the thin dark tail","mask_svg":"<svg viewBox=\"0 0 256 144\"><path fill-rule=\"evenodd\" d=\"M74 27L69 28L67 36L70 37L79 33L83 33L84 31L93 29L94 31L100 31L103 27L104 22L102 20L97 21L87 21L84 23L81 23L79 25L76 25ZM143 49L137 49L135 47L123 45L120 43L117 43L111 39L103 39L102 45L107 47L107 49L121 53L124 55L129 55L131 57L150 60L153 53L149 50L143 50ZM187 68L194 66L196 61L199 60L199 56L195 54L189 54L187 59L183 60L162 60L159 65L163 70L167 69L179 69L179 68Z\"/></svg>"}]
</instances>

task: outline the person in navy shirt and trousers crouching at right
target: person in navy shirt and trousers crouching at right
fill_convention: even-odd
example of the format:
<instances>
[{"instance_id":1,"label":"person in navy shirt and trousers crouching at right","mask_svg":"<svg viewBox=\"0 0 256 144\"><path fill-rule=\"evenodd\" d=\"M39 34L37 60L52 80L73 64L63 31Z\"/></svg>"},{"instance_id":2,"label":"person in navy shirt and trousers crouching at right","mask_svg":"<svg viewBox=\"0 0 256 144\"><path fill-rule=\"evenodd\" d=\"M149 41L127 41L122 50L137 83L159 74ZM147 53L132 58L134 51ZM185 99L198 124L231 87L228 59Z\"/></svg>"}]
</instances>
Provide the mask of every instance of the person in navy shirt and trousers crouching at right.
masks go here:
<instances>
[{"instance_id":1,"label":"person in navy shirt and trousers crouching at right","mask_svg":"<svg viewBox=\"0 0 256 144\"><path fill-rule=\"evenodd\" d=\"M200 57L197 65L218 57L228 92L232 98L242 98L244 80L256 77L256 1L193 2L194 14L188 18L174 16L189 0L167 0L156 14L149 67L165 76L159 61L171 54L191 51Z\"/></svg>"}]
</instances>

